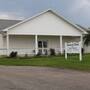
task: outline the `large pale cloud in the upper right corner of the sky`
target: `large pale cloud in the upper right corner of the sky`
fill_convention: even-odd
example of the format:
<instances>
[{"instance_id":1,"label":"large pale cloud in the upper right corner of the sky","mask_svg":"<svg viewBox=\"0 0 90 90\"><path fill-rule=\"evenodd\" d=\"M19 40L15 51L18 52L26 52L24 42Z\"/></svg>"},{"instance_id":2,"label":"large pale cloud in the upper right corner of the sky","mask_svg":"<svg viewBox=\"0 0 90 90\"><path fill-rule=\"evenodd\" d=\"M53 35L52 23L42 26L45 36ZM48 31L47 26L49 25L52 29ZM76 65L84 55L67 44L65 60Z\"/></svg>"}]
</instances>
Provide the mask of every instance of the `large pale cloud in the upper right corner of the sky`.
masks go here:
<instances>
[{"instance_id":1,"label":"large pale cloud in the upper right corner of the sky","mask_svg":"<svg viewBox=\"0 0 90 90\"><path fill-rule=\"evenodd\" d=\"M68 9L68 16L74 23L90 26L90 0L75 0Z\"/></svg>"}]
</instances>

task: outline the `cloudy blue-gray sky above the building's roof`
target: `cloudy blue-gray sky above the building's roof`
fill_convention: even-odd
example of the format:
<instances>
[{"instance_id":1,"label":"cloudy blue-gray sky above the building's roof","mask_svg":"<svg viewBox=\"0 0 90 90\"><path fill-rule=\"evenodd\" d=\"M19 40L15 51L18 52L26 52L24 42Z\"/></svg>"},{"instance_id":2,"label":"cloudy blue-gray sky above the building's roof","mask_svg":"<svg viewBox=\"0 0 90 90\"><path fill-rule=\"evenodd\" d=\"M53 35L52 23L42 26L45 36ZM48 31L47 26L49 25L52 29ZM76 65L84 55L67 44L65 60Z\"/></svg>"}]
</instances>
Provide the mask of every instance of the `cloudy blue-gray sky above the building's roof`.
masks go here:
<instances>
[{"instance_id":1,"label":"cloudy blue-gray sky above the building's roof","mask_svg":"<svg viewBox=\"0 0 90 90\"><path fill-rule=\"evenodd\" d=\"M0 0L1 19L25 19L47 9L90 27L90 0Z\"/></svg>"}]
</instances>

